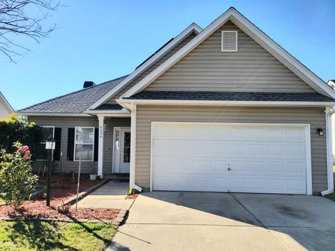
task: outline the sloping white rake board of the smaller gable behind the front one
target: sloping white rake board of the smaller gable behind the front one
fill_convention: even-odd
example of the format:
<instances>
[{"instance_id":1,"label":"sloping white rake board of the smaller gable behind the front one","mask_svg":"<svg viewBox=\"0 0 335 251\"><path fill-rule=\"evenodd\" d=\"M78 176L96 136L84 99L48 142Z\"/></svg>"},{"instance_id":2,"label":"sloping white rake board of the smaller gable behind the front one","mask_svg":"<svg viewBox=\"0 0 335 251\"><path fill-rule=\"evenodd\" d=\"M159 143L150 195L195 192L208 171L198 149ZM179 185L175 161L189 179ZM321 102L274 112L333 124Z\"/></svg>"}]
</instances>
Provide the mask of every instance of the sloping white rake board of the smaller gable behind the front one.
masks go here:
<instances>
[{"instance_id":1,"label":"sloping white rake board of the smaller gable behind the front one","mask_svg":"<svg viewBox=\"0 0 335 251\"><path fill-rule=\"evenodd\" d=\"M162 56L164 56L166 53L170 52L170 50L178 45L181 40L184 40L186 37L188 37L192 32L195 32L196 34L200 33L202 29L198 24L191 24L188 26L184 31L181 31L177 37L175 37L168 45L165 45L161 50L159 50L154 56L152 56L150 59L148 59L147 62L143 63L142 66L137 68L136 70L133 71L128 77L126 77L123 81L121 81L117 86L115 86L112 90L107 92L103 97L101 97L98 101L96 101L89 109L95 109L99 105L102 105L104 102L112 98L114 94L118 93L121 89L124 88L129 82L133 81L136 77L141 75L144 70L147 70L152 64L156 63L158 59L161 59Z\"/></svg>"}]
</instances>

